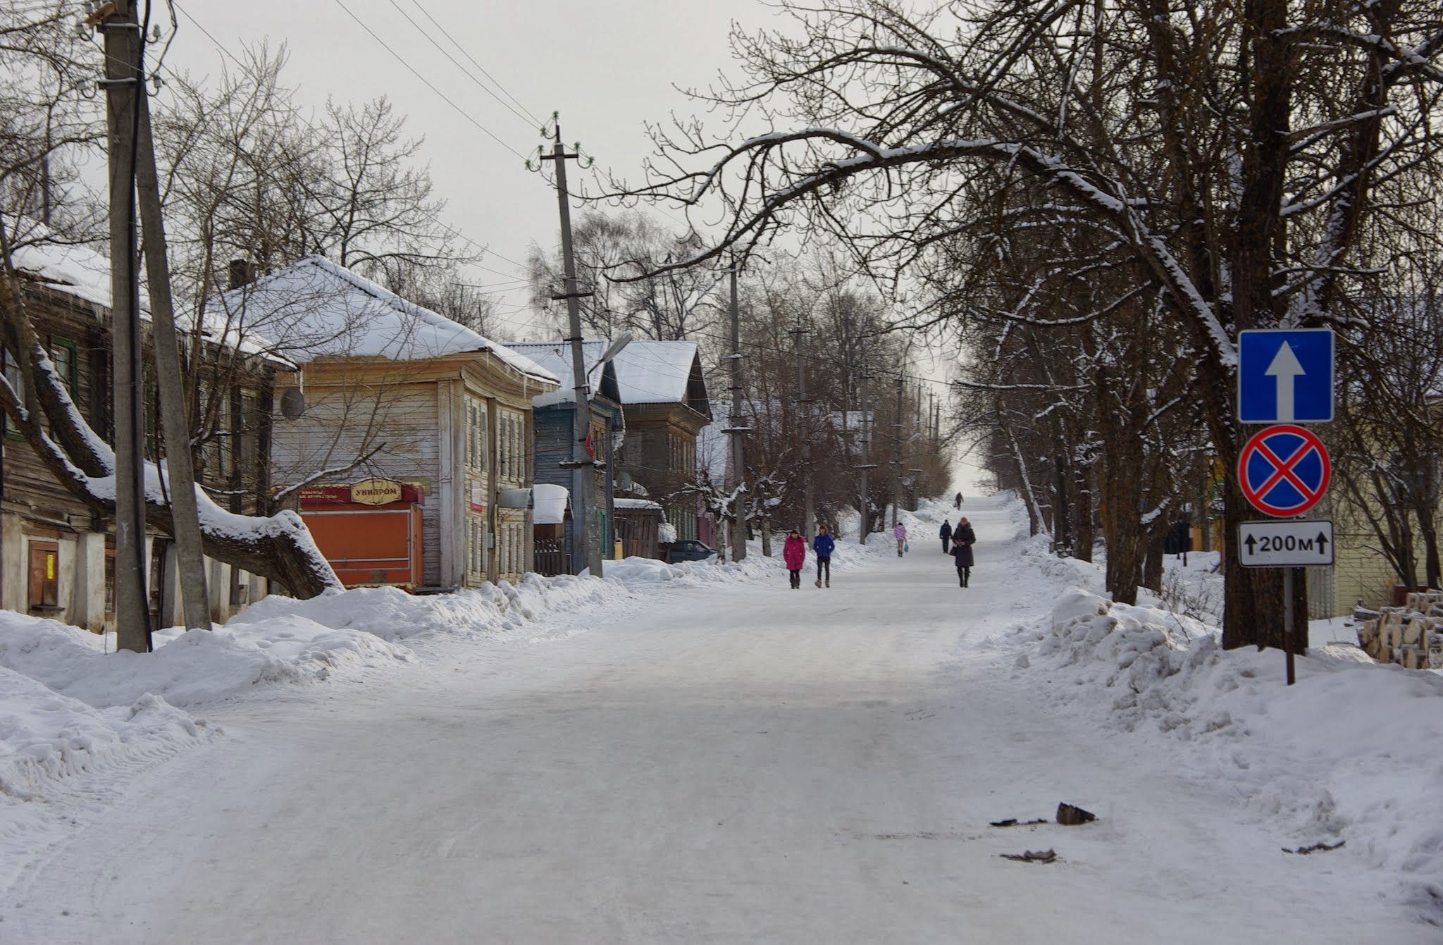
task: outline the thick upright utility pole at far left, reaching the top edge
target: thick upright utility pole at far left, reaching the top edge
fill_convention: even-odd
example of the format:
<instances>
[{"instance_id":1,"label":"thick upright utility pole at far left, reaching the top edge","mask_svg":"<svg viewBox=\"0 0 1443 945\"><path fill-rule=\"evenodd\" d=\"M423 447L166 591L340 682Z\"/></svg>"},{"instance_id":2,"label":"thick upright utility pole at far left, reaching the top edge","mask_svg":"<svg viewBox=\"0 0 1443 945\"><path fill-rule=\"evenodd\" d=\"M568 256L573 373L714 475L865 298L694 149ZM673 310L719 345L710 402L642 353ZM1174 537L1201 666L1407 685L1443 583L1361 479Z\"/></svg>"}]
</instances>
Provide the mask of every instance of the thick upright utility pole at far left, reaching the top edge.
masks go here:
<instances>
[{"instance_id":1,"label":"thick upright utility pole at far left, reaching the top edge","mask_svg":"<svg viewBox=\"0 0 1443 945\"><path fill-rule=\"evenodd\" d=\"M110 173L111 410L115 433L115 645L150 652L146 599L146 449L140 392L140 287L136 237L136 131L140 48L136 7L117 0L95 23L105 35Z\"/></svg>"}]
</instances>

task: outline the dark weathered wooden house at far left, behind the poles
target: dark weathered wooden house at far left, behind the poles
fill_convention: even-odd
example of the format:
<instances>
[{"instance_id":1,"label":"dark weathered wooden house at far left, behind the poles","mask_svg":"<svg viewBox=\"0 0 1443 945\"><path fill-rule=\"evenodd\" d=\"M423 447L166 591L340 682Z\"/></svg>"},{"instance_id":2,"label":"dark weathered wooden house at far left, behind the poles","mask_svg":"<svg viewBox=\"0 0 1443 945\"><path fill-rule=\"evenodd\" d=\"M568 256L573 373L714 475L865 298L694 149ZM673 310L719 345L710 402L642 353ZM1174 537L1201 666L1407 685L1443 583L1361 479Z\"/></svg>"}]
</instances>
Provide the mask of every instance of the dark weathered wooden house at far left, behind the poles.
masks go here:
<instances>
[{"instance_id":1,"label":"dark weathered wooden house at far left, behind the poles","mask_svg":"<svg viewBox=\"0 0 1443 945\"><path fill-rule=\"evenodd\" d=\"M81 417L111 440L110 264L84 247L25 245L13 252L26 313L46 343ZM216 502L235 512L255 512L268 501L270 403L274 358L244 346L202 339L205 358L196 375L214 411L198 460L198 480ZM149 342L146 364L152 362ZM225 365L216 372L215 365ZM192 365L196 368L196 365ZM4 355L4 377L20 390L20 371ZM147 459L163 453L156 428L153 372L144 391ZM153 626L180 622L175 544L146 535L147 587ZM114 623L114 522L63 489L30 444L4 426L0 436L0 607L53 617L94 632ZM268 592L266 579L208 560L212 620L225 620Z\"/></svg>"}]
</instances>

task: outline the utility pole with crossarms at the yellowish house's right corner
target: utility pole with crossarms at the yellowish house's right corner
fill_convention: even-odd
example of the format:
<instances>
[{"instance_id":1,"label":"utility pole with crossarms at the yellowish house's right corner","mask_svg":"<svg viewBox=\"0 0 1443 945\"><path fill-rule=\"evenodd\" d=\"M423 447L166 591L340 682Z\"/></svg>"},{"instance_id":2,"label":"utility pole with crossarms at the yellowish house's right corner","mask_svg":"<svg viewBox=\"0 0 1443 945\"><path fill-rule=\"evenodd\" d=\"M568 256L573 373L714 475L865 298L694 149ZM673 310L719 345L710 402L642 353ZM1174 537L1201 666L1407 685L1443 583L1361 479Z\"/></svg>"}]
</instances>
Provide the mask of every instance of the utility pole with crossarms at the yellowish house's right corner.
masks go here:
<instances>
[{"instance_id":1,"label":"utility pole with crossarms at the yellowish house's right corner","mask_svg":"<svg viewBox=\"0 0 1443 945\"><path fill-rule=\"evenodd\" d=\"M561 144L561 123L556 123L556 143L551 154L541 154L541 160L556 162L556 201L561 209L561 271L564 273L564 290L553 294L551 299L566 299L567 328L571 336L571 375L576 384L576 414L573 420L571 437L571 521L577 542L583 548L583 558L592 577L602 577L602 547L596 522L596 459L587 454L586 441L592 433L592 391L586 382L586 356L582 351L582 306L580 299L590 296L589 291L576 289L576 257L571 252L571 205L566 190L566 162L580 157L579 153L566 153Z\"/></svg>"}]
</instances>

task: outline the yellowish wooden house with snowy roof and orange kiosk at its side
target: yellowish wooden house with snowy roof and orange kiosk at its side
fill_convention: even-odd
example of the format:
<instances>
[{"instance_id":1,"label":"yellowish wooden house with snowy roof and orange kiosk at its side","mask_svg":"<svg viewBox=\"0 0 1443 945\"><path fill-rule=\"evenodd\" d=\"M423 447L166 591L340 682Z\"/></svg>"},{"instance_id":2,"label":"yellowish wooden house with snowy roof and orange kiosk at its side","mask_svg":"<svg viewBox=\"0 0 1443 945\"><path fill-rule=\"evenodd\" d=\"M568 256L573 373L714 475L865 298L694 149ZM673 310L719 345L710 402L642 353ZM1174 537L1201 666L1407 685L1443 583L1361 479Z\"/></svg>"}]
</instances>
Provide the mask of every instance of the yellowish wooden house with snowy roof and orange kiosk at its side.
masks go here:
<instances>
[{"instance_id":1,"label":"yellowish wooden house with snowy roof and orange kiosk at its side","mask_svg":"<svg viewBox=\"0 0 1443 945\"><path fill-rule=\"evenodd\" d=\"M531 398L556 375L320 257L216 304L297 365L277 378L271 476L342 580L440 590L531 570Z\"/></svg>"}]
</instances>

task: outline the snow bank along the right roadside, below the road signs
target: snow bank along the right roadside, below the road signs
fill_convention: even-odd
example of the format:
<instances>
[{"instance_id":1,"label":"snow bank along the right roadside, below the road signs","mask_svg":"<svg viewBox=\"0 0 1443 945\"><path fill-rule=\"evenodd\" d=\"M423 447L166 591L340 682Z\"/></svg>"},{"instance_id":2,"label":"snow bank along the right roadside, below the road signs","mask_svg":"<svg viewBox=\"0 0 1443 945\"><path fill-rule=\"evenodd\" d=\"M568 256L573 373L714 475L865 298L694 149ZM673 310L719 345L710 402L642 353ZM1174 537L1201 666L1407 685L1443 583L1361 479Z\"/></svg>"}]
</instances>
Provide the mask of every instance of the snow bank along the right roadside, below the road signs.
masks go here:
<instances>
[{"instance_id":1,"label":"snow bank along the right roadside, below the road signs","mask_svg":"<svg viewBox=\"0 0 1443 945\"><path fill-rule=\"evenodd\" d=\"M1185 776L1225 781L1296 845L1346 841L1443 919L1443 675L1323 646L1287 687L1277 651L1224 651L1215 626L1081 587L1059 589L1046 632L1020 633L1032 656L1013 665L1046 677L1042 700L1157 740Z\"/></svg>"}]
</instances>

